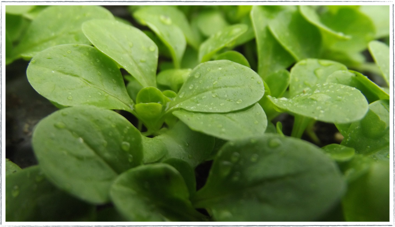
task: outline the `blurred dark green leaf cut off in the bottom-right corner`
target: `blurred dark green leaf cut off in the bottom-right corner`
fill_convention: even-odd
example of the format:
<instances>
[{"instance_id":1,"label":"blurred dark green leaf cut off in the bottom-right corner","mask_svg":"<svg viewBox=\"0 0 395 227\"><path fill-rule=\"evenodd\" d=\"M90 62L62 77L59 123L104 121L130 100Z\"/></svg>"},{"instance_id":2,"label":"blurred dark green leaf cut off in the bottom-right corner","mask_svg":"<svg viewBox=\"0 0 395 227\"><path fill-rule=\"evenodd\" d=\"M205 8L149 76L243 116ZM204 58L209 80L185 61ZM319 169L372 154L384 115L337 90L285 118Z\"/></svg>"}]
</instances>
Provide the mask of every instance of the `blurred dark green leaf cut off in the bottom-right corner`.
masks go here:
<instances>
[{"instance_id":1,"label":"blurred dark green leaf cut off in the bottom-right corner","mask_svg":"<svg viewBox=\"0 0 395 227\"><path fill-rule=\"evenodd\" d=\"M391 178L391 164L379 161L349 184L342 199L347 223L391 223Z\"/></svg>"}]
</instances>

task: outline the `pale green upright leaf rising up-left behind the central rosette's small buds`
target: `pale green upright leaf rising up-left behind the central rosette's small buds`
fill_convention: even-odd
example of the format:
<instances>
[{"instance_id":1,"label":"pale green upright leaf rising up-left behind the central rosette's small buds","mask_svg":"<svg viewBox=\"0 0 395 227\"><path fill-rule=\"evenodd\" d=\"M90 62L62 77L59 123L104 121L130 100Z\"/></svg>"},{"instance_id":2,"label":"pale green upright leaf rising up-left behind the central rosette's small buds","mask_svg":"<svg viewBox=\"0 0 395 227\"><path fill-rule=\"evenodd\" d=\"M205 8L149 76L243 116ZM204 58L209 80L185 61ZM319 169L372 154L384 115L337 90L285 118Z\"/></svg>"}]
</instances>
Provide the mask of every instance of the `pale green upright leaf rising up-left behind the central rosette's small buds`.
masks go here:
<instances>
[{"instance_id":1,"label":"pale green upright leaf rising up-left behind the central rosette's small buds","mask_svg":"<svg viewBox=\"0 0 395 227\"><path fill-rule=\"evenodd\" d=\"M82 24L82 31L143 87L157 86L158 47L139 29L116 20L90 20Z\"/></svg>"}]
</instances>

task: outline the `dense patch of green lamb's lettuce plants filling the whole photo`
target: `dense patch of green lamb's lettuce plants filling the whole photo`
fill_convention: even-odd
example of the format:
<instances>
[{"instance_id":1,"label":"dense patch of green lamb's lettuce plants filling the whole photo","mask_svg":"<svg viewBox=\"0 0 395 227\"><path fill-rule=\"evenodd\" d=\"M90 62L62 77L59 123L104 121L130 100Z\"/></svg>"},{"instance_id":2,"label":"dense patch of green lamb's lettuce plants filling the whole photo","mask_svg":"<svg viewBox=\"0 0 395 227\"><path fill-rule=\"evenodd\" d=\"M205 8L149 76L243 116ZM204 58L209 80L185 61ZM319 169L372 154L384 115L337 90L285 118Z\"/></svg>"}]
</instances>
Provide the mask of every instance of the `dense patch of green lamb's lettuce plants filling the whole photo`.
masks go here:
<instances>
[{"instance_id":1,"label":"dense patch of green lamb's lettuce plants filling the whole photo","mask_svg":"<svg viewBox=\"0 0 395 227\"><path fill-rule=\"evenodd\" d=\"M366 7L131 4L139 27L101 6L38 9L4 54L31 59L60 110L35 127L38 166L4 159L5 222L391 222L391 47L373 40L389 16ZM367 48L386 84L357 72ZM316 121L341 144L316 146Z\"/></svg>"}]
</instances>

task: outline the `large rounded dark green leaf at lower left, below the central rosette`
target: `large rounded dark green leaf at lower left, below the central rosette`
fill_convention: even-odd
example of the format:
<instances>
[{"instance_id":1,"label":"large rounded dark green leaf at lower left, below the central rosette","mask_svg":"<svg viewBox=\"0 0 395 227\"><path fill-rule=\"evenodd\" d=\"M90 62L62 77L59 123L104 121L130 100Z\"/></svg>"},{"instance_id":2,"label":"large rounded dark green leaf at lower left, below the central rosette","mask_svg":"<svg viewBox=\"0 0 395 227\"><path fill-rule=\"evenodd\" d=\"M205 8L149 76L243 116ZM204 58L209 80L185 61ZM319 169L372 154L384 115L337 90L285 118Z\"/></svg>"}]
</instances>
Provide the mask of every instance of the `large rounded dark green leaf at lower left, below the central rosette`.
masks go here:
<instances>
[{"instance_id":1,"label":"large rounded dark green leaf at lower left, below the central rosette","mask_svg":"<svg viewBox=\"0 0 395 227\"><path fill-rule=\"evenodd\" d=\"M48 180L90 203L109 201L119 173L141 164L140 132L119 114L69 107L36 126L33 149Z\"/></svg>"}]
</instances>

